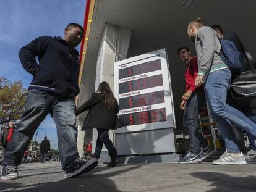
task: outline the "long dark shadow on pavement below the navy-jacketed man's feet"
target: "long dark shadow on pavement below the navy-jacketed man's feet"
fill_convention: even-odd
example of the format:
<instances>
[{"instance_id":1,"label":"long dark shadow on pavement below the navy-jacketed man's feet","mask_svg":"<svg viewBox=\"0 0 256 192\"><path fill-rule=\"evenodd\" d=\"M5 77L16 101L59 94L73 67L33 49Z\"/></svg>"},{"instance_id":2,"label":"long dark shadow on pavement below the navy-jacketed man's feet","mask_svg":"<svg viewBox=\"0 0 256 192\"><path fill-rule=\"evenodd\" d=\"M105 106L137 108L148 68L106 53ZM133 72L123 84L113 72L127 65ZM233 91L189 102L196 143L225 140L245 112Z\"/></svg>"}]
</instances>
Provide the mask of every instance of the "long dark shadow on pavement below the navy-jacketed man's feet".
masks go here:
<instances>
[{"instance_id":1,"label":"long dark shadow on pavement below the navy-jacketed man's feet","mask_svg":"<svg viewBox=\"0 0 256 192\"><path fill-rule=\"evenodd\" d=\"M107 171L108 167L96 167L91 172L80 175L76 178L63 179L56 182L40 182L31 185L23 185L22 183L0 183L0 189L8 189L8 188L16 188L15 191L90 191L90 192L108 192L108 191L119 191L117 189L118 183L114 183L113 180L109 179L109 177L114 177L124 172L129 172L131 170L142 167L144 164L134 165L132 167L119 166L124 167L122 170L116 170L114 172L108 173L98 173L101 171ZM113 169L113 168L112 168ZM46 173L46 175L49 173ZM63 172L64 175L64 172ZM49 180L54 180L49 179ZM13 180L15 181L15 180ZM32 181L33 182L33 181ZM121 192L121 191L120 191Z\"/></svg>"}]
</instances>

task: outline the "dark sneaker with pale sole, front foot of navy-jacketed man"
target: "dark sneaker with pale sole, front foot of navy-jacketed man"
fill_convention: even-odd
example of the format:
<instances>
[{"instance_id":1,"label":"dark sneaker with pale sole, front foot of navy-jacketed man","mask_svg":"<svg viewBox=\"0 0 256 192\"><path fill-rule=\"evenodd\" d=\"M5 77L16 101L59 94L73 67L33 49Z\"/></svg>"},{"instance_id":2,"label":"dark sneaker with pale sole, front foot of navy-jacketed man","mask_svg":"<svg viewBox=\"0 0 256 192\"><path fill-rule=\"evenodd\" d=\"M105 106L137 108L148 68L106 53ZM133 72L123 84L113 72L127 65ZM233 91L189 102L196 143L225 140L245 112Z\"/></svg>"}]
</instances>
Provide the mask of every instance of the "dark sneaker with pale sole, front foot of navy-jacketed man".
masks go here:
<instances>
[{"instance_id":1,"label":"dark sneaker with pale sole, front foot of navy-jacketed man","mask_svg":"<svg viewBox=\"0 0 256 192\"><path fill-rule=\"evenodd\" d=\"M65 169L65 178L71 178L83 173L90 172L98 164L98 159L92 158L89 160L75 159L69 166Z\"/></svg>"}]
</instances>

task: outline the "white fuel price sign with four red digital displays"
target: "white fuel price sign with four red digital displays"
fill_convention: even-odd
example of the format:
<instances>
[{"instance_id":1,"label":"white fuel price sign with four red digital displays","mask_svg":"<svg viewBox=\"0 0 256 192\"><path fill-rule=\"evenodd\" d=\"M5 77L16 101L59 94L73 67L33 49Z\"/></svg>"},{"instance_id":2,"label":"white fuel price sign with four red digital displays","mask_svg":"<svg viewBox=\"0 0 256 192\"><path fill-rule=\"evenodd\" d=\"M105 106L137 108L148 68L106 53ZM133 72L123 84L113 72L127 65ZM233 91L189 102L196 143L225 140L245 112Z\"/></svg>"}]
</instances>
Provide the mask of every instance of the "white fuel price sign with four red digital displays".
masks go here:
<instances>
[{"instance_id":1,"label":"white fuel price sign with four red digital displays","mask_svg":"<svg viewBox=\"0 0 256 192\"><path fill-rule=\"evenodd\" d=\"M124 125L115 133L174 127L165 49L116 62L114 94Z\"/></svg>"}]
</instances>

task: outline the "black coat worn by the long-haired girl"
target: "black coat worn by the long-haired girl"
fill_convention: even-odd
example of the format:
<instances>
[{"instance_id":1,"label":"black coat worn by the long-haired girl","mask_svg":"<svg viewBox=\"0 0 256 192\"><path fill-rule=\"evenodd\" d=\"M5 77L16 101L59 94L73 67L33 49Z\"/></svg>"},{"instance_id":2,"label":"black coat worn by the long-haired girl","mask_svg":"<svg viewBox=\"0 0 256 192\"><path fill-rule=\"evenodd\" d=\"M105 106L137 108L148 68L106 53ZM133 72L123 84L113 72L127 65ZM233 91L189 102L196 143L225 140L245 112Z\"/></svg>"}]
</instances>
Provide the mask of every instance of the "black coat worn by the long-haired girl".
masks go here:
<instances>
[{"instance_id":1,"label":"black coat worn by the long-haired girl","mask_svg":"<svg viewBox=\"0 0 256 192\"><path fill-rule=\"evenodd\" d=\"M89 112L83 122L82 131L87 128L114 129L116 114L119 112L117 101L116 109L111 111L105 106L104 97L100 98L99 93L93 93L92 97L75 111L75 115L79 115L87 109Z\"/></svg>"}]
</instances>

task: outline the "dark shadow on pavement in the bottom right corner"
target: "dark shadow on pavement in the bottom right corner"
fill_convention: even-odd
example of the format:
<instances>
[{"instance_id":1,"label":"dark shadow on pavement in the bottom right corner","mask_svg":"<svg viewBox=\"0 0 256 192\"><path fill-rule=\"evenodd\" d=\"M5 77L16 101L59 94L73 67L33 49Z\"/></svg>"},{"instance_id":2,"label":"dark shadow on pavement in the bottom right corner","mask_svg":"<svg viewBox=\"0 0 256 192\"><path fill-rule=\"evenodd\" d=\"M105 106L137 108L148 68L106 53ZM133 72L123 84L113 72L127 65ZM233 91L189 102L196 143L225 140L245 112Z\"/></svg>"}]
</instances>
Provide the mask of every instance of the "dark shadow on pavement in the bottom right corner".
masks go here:
<instances>
[{"instance_id":1,"label":"dark shadow on pavement in the bottom right corner","mask_svg":"<svg viewBox=\"0 0 256 192\"><path fill-rule=\"evenodd\" d=\"M228 191L256 191L256 177L247 176L230 176L224 173L218 172L194 172L190 173L192 177L200 178L208 182L212 182L208 187L212 189L207 190L207 192L228 192Z\"/></svg>"}]
</instances>

